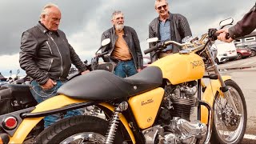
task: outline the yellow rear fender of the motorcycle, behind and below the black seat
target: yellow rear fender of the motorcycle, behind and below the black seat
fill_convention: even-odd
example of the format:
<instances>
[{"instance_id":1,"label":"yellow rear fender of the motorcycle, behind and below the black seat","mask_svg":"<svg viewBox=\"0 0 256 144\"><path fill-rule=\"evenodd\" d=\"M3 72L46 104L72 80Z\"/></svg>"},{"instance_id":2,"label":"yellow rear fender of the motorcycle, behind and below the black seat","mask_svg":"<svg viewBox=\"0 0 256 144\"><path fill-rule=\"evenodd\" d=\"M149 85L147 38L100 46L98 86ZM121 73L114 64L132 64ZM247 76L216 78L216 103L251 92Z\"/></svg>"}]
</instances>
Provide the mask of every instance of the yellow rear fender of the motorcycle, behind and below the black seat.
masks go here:
<instances>
[{"instance_id":1,"label":"yellow rear fender of the motorcycle, behind and below the black seat","mask_svg":"<svg viewBox=\"0 0 256 144\"><path fill-rule=\"evenodd\" d=\"M41 102L36 106L36 108L31 113L37 113L42 112L46 110L53 110L58 109L63 106L67 106L73 103L78 102L86 102L86 100L79 100L79 99L73 99L66 97L65 95L58 95L53 98L49 98L44 102ZM107 103L100 103L99 105L106 107L107 109L114 111L114 106L111 106ZM15 131L14 136L10 137L10 143L22 143L27 135L30 133L30 131L42 120L42 118L25 118L21 125L18 126L18 129ZM130 134L130 138L135 143L134 134L132 133L132 130L130 130L130 127L128 126L128 122L126 121L126 118L120 114L119 115L120 121L122 124L126 127L126 130L128 134Z\"/></svg>"}]
</instances>

